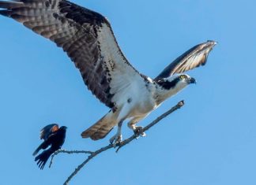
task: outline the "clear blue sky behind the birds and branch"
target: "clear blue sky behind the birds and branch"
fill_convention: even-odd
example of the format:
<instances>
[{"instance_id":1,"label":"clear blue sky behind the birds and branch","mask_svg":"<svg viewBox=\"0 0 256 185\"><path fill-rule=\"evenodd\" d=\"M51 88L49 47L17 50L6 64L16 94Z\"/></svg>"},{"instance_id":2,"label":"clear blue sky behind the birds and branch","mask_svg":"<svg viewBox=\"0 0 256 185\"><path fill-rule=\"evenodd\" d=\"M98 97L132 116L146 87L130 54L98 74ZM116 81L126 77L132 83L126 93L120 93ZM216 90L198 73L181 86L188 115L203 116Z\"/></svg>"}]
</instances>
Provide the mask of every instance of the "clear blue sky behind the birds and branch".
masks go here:
<instances>
[{"instance_id":1,"label":"clear blue sky behind the birds and branch","mask_svg":"<svg viewBox=\"0 0 256 185\"><path fill-rule=\"evenodd\" d=\"M147 137L115 154L96 157L70 184L256 184L256 2L86 0L104 14L123 52L141 73L154 77L179 54L219 42L205 67L189 72L197 85L169 99L148 124L184 99L186 105ZM108 139L81 139L81 131L108 109L85 87L80 73L54 43L0 17L1 184L62 184L84 155L60 154L52 168L37 168L33 150L40 129L68 127L66 150L95 150ZM131 135L124 124L123 136ZM48 164L47 164L48 165Z\"/></svg>"}]
</instances>

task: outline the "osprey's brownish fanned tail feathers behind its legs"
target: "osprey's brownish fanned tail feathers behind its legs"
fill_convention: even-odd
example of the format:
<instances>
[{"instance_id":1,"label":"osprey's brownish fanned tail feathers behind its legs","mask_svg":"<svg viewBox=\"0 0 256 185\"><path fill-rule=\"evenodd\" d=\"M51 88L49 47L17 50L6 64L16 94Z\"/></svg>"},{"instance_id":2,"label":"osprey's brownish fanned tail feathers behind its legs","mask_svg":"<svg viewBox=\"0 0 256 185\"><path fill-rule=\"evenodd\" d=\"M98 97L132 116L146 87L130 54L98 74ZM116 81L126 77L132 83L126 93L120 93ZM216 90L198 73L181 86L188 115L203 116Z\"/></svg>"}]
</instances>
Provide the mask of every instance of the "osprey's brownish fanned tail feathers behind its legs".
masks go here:
<instances>
[{"instance_id":1,"label":"osprey's brownish fanned tail feathers behind its legs","mask_svg":"<svg viewBox=\"0 0 256 185\"><path fill-rule=\"evenodd\" d=\"M91 138L92 140L103 139L117 124L115 113L110 111L102 117L96 124L81 133L82 138Z\"/></svg>"}]
</instances>

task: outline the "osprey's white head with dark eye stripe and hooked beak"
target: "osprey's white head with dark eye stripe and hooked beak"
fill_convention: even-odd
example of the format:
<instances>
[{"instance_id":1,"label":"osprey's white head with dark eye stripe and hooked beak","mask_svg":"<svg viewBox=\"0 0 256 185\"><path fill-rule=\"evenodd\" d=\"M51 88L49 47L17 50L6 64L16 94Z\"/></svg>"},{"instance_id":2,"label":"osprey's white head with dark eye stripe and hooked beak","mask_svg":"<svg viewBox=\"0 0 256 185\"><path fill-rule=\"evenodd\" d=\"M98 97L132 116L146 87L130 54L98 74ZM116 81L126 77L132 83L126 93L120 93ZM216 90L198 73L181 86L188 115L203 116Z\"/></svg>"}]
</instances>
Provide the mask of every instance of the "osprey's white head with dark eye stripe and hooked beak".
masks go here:
<instances>
[{"instance_id":1,"label":"osprey's white head with dark eye stripe and hooked beak","mask_svg":"<svg viewBox=\"0 0 256 185\"><path fill-rule=\"evenodd\" d=\"M175 93L177 93L188 84L196 83L196 80L186 74L176 74L169 76L168 78L158 80L157 83L165 90L175 90Z\"/></svg>"}]
</instances>

